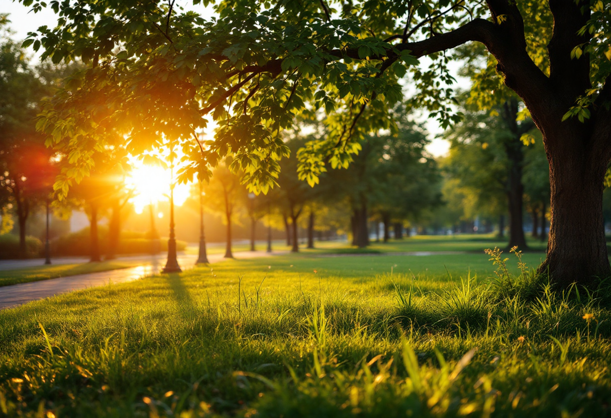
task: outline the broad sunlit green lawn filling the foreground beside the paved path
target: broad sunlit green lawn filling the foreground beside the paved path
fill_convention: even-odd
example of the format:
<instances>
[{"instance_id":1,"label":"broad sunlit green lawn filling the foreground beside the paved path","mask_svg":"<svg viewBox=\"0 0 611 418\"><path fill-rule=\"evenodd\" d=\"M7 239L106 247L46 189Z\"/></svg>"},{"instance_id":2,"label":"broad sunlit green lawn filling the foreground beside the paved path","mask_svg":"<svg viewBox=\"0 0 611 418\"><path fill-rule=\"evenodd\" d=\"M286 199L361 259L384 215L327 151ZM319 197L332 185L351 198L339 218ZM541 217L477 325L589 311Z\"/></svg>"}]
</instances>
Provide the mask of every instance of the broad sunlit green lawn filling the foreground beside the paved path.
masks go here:
<instances>
[{"instance_id":1,"label":"broad sunlit green lawn filling the foreground beside the paved path","mask_svg":"<svg viewBox=\"0 0 611 418\"><path fill-rule=\"evenodd\" d=\"M0 414L610 416L606 290L488 258L227 260L4 310Z\"/></svg>"}]
</instances>

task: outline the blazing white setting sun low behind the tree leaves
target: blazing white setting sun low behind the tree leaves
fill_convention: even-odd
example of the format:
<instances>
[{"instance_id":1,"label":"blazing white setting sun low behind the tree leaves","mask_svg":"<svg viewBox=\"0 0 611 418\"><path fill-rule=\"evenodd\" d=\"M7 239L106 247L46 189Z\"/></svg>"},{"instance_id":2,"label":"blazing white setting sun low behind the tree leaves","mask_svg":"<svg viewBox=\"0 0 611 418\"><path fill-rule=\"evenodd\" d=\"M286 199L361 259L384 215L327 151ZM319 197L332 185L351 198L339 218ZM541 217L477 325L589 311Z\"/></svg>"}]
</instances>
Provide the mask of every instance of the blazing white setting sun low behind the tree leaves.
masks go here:
<instances>
[{"instance_id":1,"label":"blazing white setting sun low behind the tree leaves","mask_svg":"<svg viewBox=\"0 0 611 418\"><path fill-rule=\"evenodd\" d=\"M126 185L133 188L134 196L130 202L136 213L140 214L147 205L167 202L170 196L172 174L161 166L148 166L141 161L131 161L133 169L126 178ZM174 186L174 205L180 206L189 197L190 185Z\"/></svg>"}]
</instances>

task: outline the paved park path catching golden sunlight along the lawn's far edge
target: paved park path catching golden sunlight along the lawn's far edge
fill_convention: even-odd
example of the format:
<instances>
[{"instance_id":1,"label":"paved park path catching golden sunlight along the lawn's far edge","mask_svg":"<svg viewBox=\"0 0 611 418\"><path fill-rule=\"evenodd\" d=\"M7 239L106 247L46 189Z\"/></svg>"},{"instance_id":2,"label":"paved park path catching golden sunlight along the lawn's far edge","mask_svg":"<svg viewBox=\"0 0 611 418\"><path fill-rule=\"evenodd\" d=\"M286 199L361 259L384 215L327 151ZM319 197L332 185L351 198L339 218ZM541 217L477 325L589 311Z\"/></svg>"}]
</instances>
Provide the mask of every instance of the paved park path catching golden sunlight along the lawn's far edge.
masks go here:
<instances>
[{"instance_id":1,"label":"paved park path catching golden sunlight along the lawn's far edge","mask_svg":"<svg viewBox=\"0 0 611 418\"><path fill-rule=\"evenodd\" d=\"M233 255L236 259L253 259L257 257L270 257L273 255L285 254L285 252L286 251L274 251L272 253L264 251L240 251L234 252ZM208 255L208 260L211 263L219 262L222 259L222 254ZM141 279L142 277L159 273L166 264L165 257L149 256L147 259L143 260L144 262L141 265L130 268L77 274L75 276L57 277L57 279L2 286L0 287L0 309L19 306L30 301L48 298L53 295L59 295L60 293L72 292L73 290L102 286L109 282L115 284L131 282ZM192 268L196 260L196 254L178 255L178 264L183 271Z\"/></svg>"}]
</instances>

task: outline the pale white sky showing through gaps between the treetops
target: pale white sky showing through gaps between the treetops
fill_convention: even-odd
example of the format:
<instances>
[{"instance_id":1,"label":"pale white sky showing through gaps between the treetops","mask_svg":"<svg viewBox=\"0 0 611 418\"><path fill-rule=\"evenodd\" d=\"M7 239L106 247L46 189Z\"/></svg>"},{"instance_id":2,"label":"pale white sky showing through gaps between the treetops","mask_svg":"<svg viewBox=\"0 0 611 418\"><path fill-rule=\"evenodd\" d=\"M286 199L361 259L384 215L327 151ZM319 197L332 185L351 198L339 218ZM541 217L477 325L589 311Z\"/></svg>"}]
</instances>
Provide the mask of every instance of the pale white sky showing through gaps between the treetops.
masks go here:
<instances>
[{"instance_id":1,"label":"pale white sky showing through gaps between the treetops","mask_svg":"<svg viewBox=\"0 0 611 418\"><path fill-rule=\"evenodd\" d=\"M211 7L203 7L202 5L193 6L190 0L177 0L177 4L181 5L187 10L194 10L200 13L204 18L208 18L213 15ZM48 7L43 8L40 12L34 13L29 12L29 7L24 7L23 4L12 1L12 0L0 0L0 13L9 13L9 20L11 21L11 28L13 32L13 38L16 40L23 40L27 37L27 32L35 31L40 26L54 26L57 23L57 16L53 13L53 10ZM40 54L38 54L39 56ZM32 56L34 60L37 60L37 56L32 50ZM467 89L469 87L469 81L464 78L460 78L456 75L458 71L458 65L453 68L452 71L458 80L458 87ZM439 138L443 133L443 130L435 119L429 119L426 112L417 118L420 122L425 123L426 129L429 131L431 143L426 147L426 150L433 156L444 156L447 155L450 144L445 139Z\"/></svg>"}]
</instances>

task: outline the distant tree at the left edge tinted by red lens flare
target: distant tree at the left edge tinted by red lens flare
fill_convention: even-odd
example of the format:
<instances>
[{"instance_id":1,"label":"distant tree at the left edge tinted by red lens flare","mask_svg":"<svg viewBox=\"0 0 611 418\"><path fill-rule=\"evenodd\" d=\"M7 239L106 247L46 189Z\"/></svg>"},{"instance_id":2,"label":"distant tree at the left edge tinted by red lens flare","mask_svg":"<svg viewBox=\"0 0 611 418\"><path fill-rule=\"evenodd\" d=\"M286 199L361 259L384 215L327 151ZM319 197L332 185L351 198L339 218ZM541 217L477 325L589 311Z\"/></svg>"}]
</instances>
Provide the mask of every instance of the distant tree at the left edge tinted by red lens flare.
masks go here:
<instances>
[{"instance_id":1,"label":"distant tree at the left edge tinted by red lens flare","mask_svg":"<svg viewBox=\"0 0 611 418\"><path fill-rule=\"evenodd\" d=\"M53 191L53 152L35 129L46 88L9 35L9 21L0 15L0 209L3 221L15 213L19 248L26 254L26 221Z\"/></svg>"}]
</instances>

